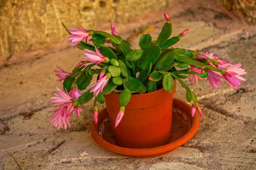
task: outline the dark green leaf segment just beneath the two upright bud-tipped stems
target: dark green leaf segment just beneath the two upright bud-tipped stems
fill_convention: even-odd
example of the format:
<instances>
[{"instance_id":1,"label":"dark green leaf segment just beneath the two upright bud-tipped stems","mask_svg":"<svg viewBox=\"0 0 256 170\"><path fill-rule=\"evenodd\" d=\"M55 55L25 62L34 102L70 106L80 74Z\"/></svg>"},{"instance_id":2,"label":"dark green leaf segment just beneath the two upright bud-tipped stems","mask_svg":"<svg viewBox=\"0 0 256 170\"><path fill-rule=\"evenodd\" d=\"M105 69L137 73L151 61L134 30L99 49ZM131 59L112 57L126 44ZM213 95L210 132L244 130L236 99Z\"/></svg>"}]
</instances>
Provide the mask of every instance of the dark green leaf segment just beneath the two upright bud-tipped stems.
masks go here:
<instances>
[{"instance_id":1,"label":"dark green leaf segment just beneath the two upright bud-tipped stems","mask_svg":"<svg viewBox=\"0 0 256 170\"><path fill-rule=\"evenodd\" d=\"M175 52L173 51L170 51L165 53L164 55L161 55L155 65L157 70L163 70L166 67L170 66L174 60L174 55L175 55Z\"/></svg>"}]
</instances>

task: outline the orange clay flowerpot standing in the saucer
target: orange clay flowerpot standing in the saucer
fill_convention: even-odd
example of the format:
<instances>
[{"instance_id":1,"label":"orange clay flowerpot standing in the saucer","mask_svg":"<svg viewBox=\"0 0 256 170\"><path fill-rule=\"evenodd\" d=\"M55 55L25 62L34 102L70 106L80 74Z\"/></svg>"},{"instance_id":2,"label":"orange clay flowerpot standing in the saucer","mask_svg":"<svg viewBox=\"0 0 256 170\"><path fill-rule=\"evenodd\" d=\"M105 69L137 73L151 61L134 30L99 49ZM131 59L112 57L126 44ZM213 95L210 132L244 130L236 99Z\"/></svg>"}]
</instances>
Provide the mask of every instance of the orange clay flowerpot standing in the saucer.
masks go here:
<instances>
[{"instance_id":1,"label":"orange clay flowerpot standing in the saucer","mask_svg":"<svg viewBox=\"0 0 256 170\"><path fill-rule=\"evenodd\" d=\"M132 95L125 106L124 117L115 127L120 110L119 94L105 95L107 111L118 146L126 148L152 148L164 145L170 139L172 128L172 92L164 89L146 94Z\"/></svg>"}]
</instances>

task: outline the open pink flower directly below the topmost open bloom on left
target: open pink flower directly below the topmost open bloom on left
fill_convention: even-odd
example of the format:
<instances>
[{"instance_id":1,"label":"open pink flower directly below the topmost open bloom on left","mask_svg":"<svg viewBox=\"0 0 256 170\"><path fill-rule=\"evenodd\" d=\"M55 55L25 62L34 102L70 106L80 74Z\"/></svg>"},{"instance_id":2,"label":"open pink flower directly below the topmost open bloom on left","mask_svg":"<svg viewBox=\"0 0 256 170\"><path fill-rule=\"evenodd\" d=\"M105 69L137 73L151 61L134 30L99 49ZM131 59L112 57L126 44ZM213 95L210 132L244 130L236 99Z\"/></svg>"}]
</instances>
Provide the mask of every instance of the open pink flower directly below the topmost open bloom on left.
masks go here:
<instances>
[{"instance_id":1,"label":"open pink flower directly below the topmost open bloom on left","mask_svg":"<svg viewBox=\"0 0 256 170\"><path fill-rule=\"evenodd\" d=\"M88 63L84 64L84 66L88 66L90 64L99 64L100 62L105 62L106 57L104 57L98 50L98 48L95 46L96 52L93 52L92 50L84 49L84 57L82 60L88 61Z\"/></svg>"}]
</instances>

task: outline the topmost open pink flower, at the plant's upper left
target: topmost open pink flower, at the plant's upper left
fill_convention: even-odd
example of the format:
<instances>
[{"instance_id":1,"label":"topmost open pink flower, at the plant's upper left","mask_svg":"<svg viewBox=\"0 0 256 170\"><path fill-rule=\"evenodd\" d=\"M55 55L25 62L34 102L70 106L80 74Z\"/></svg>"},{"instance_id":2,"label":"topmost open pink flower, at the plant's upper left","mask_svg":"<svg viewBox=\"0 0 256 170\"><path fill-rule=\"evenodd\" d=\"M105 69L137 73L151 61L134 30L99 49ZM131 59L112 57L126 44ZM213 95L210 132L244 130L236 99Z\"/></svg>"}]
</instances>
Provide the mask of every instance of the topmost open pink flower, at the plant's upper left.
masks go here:
<instances>
[{"instance_id":1,"label":"topmost open pink flower, at the plant's upper left","mask_svg":"<svg viewBox=\"0 0 256 170\"><path fill-rule=\"evenodd\" d=\"M84 29L83 27L77 25L77 28L78 29L68 27L68 31L71 33L68 36L68 42L70 42L70 45L73 45L74 47L76 47L78 43L80 43L84 39L87 39L88 36L90 36L89 32L86 31L86 29Z\"/></svg>"}]
</instances>

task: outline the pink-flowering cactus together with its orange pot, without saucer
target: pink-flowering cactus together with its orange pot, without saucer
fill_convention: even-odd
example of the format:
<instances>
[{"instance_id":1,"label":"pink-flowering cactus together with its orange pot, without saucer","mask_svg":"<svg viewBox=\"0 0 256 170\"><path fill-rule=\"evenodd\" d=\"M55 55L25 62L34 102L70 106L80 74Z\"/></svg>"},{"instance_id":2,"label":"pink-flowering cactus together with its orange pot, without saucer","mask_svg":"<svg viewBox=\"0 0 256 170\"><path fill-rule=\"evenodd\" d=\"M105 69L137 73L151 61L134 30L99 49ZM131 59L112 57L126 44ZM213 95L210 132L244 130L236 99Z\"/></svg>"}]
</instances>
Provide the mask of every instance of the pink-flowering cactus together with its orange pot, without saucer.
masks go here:
<instances>
[{"instance_id":1,"label":"pink-flowering cactus together with its orange pot, without saucer","mask_svg":"<svg viewBox=\"0 0 256 170\"><path fill-rule=\"evenodd\" d=\"M164 13L165 24L156 40L150 34L140 38L140 49L133 50L111 24L111 34L103 31L63 27L67 30L68 42L81 50L84 57L71 73L60 67L56 76L63 81L63 89L53 99L58 106L52 115L51 124L57 129L70 127L69 116L76 110L81 113L81 104L94 97L93 119L97 124L98 108L96 103L105 103L111 121L111 127L120 146L127 148L150 148L164 145L170 138L172 127L172 99L175 83L186 89L186 99L193 102L191 116L201 107L196 95L182 80L190 79L197 83L198 78L207 78L212 90L227 81L230 87L237 89L242 75L241 64L231 64L212 53L198 53L184 48L173 48L189 29L170 38L172 24ZM87 43L92 37L93 45ZM84 39L86 42L84 42ZM90 85L93 75L97 82ZM86 92L81 90L89 87Z\"/></svg>"}]
</instances>

